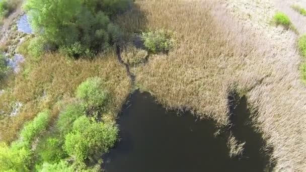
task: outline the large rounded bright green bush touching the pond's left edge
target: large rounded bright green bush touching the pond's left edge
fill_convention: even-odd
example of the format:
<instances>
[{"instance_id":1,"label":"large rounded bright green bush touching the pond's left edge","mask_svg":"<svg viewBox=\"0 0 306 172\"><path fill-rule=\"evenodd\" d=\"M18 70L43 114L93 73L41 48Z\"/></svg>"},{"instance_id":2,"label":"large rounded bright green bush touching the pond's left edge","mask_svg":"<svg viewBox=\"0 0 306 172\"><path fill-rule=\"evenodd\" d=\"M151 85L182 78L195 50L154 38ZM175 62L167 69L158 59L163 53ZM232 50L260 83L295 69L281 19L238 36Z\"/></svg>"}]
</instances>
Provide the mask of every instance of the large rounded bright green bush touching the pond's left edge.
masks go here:
<instances>
[{"instance_id":1,"label":"large rounded bright green bush touching the pond's left edge","mask_svg":"<svg viewBox=\"0 0 306 172\"><path fill-rule=\"evenodd\" d=\"M117 136L118 127L114 123L99 123L82 116L66 135L64 150L76 161L95 160L114 146Z\"/></svg>"}]
</instances>

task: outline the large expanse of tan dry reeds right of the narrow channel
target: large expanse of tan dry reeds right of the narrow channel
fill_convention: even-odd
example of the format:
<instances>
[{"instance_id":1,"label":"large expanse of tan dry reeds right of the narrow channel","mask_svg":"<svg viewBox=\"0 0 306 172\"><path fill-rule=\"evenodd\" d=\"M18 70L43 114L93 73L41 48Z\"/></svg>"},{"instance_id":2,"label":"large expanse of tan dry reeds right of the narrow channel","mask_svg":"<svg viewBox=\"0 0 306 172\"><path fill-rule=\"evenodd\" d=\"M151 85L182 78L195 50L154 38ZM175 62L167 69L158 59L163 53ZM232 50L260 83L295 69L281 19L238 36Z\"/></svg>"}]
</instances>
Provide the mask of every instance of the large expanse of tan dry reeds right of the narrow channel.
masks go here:
<instances>
[{"instance_id":1,"label":"large expanse of tan dry reeds right of the narrow channel","mask_svg":"<svg viewBox=\"0 0 306 172\"><path fill-rule=\"evenodd\" d=\"M142 12L142 29L171 30L178 40L168 56L150 56L147 65L136 68L137 84L168 108L187 108L223 126L229 123L228 92L236 88L258 111L252 119L273 147L274 170L306 170L306 89L299 80L300 57L293 44L271 42L266 33L238 23L215 1L136 4L137 14L121 19L123 26L137 31L129 25L135 21L138 26ZM288 42L296 39L287 33Z\"/></svg>"}]
</instances>

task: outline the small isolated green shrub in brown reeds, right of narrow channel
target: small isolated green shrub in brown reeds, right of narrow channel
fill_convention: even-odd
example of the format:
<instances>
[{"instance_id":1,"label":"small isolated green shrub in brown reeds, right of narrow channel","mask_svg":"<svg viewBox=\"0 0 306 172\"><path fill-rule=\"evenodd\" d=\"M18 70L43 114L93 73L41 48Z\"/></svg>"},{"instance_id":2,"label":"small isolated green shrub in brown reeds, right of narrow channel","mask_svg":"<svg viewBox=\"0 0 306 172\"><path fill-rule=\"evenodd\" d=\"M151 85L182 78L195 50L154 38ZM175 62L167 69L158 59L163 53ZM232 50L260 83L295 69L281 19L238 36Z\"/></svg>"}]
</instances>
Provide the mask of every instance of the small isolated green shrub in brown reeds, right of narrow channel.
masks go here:
<instances>
[{"instance_id":1,"label":"small isolated green shrub in brown reeds, right of narrow channel","mask_svg":"<svg viewBox=\"0 0 306 172\"><path fill-rule=\"evenodd\" d=\"M174 47L174 41L171 38L172 34L164 30L151 31L142 33L142 40L145 48L150 53L167 53Z\"/></svg>"}]
</instances>

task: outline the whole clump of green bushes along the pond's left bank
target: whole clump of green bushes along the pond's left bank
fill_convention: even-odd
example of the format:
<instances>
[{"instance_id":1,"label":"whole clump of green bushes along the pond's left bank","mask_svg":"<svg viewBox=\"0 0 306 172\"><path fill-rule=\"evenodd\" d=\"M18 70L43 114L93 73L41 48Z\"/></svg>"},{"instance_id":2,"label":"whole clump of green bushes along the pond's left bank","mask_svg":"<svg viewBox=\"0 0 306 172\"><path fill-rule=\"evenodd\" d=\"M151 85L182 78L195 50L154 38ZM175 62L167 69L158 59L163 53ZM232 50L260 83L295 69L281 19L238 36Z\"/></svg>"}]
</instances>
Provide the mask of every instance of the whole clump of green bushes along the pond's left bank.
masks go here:
<instances>
[{"instance_id":1,"label":"whole clump of green bushes along the pond's left bank","mask_svg":"<svg viewBox=\"0 0 306 172\"><path fill-rule=\"evenodd\" d=\"M104 110L108 94L103 88L103 80L99 77L88 78L79 85L75 95L81 102L67 105L59 114L52 131L37 145L37 170L89 169L99 164L101 154L114 146L118 136L115 122L100 122L86 113L88 107L95 107L93 113ZM68 164L67 159L71 163Z\"/></svg>"}]
</instances>

